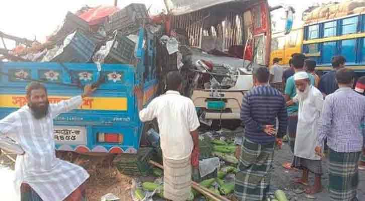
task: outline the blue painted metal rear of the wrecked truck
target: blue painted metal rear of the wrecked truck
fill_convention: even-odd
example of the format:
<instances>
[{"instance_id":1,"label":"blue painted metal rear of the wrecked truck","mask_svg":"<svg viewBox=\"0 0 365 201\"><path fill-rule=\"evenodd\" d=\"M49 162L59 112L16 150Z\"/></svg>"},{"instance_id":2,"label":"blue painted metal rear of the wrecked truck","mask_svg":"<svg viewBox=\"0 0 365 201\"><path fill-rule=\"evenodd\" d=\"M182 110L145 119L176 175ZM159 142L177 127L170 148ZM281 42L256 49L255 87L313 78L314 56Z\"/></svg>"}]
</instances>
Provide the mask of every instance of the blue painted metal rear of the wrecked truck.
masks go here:
<instances>
[{"instance_id":1,"label":"blue painted metal rear of the wrecked truck","mask_svg":"<svg viewBox=\"0 0 365 201\"><path fill-rule=\"evenodd\" d=\"M140 31L139 42L143 41L144 30ZM150 38L151 39L151 38ZM152 39L151 39L152 40ZM155 56L155 43L150 41L148 44L148 55ZM86 63L64 63L64 68L59 63L25 63L25 62L0 62L0 71L3 73L0 76L0 95L14 94L24 95L25 87L29 83L21 79L11 79L5 73L14 74L16 71L23 70L29 73L29 77L33 80L47 79L44 76L45 72L53 71L59 73L58 79L50 79L48 77L45 83L48 95L52 96L76 96L83 91L77 86L61 85L72 84L71 77L77 77L82 84L95 82L99 76L106 76L106 82L102 83L95 91L93 97L125 97L127 98L126 111L113 110L74 110L69 113L61 114L54 119L54 125L59 126L82 126L87 130L87 143L71 144L72 150L79 146L85 146L89 150L103 147L106 151L110 151L113 147L119 147L124 152L134 153L139 149L141 132L143 124L138 117L137 99L134 95L134 87L143 84L143 90L150 90L156 87L158 80L156 75L148 75L149 79L143 79L145 68L155 68L155 63L148 63L144 59L143 46L139 44L136 52L138 53L138 63L136 66L124 64L102 64L102 70L98 71L95 64ZM148 65L145 65L147 64ZM151 74L156 71L149 71ZM89 79L84 79L84 74L90 74ZM118 73L121 75L121 80L112 80L107 75L110 73ZM150 101L157 94L152 94ZM10 113L16 111L17 108L0 108L0 118L4 118ZM100 143L97 141L97 133L122 133L124 138L122 144ZM62 144L56 144L59 149Z\"/></svg>"}]
</instances>

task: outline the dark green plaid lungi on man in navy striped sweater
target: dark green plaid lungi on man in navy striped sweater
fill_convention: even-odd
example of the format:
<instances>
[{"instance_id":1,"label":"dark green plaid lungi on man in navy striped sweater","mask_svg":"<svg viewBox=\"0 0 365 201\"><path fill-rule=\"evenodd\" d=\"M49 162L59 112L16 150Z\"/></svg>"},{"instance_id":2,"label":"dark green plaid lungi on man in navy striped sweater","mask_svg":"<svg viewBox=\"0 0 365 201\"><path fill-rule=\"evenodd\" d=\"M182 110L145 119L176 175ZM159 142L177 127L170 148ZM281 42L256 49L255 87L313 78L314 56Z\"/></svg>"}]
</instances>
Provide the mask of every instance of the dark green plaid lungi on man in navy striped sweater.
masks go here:
<instances>
[{"instance_id":1,"label":"dark green plaid lungi on man in navy striped sweater","mask_svg":"<svg viewBox=\"0 0 365 201\"><path fill-rule=\"evenodd\" d=\"M270 189L274 142L261 145L244 138L241 146L235 197L239 201L263 200Z\"/></svg>"}]
</instances>

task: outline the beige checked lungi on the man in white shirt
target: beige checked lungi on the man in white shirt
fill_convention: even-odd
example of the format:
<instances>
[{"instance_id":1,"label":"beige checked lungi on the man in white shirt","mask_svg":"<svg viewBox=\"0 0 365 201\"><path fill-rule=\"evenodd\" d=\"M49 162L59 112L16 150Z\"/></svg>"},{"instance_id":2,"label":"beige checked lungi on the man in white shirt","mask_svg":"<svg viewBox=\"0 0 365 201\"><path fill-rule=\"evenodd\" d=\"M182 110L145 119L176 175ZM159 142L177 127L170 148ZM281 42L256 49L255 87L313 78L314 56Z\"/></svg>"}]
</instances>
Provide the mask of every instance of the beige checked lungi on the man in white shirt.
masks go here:
<instances>
[{"instance_id":1,"label":"beige checked lungi on the man in white shirt","mask_svg":"<svg viewBox=\"0 0 365 201\"><path fill-rule=\"evenodd\" d=\"M190 157L172 160L163 157L164 163L164 197L173 201L185 201L191 191Z\"/></svg>"}]
</instances>

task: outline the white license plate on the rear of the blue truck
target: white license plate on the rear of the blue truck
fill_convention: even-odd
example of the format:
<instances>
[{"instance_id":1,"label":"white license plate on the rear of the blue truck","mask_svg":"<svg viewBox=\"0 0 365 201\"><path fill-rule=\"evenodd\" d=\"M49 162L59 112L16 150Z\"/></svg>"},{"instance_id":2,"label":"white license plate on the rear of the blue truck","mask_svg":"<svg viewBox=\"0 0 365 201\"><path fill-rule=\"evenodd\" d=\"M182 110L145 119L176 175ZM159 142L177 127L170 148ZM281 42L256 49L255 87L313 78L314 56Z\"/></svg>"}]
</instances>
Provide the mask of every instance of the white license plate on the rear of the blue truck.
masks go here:
<instances>
[{"instance_id":1,"label":"white license plate on the rear of the blue truck","mask_svg":"<svg viewBox=\"0 0 365 201\"><path fill-rule=\"evenodd\" d=\"M86 128L81 126L54 126L53 138L59 144L85 144Z\"/></svg>"}]
</instances>

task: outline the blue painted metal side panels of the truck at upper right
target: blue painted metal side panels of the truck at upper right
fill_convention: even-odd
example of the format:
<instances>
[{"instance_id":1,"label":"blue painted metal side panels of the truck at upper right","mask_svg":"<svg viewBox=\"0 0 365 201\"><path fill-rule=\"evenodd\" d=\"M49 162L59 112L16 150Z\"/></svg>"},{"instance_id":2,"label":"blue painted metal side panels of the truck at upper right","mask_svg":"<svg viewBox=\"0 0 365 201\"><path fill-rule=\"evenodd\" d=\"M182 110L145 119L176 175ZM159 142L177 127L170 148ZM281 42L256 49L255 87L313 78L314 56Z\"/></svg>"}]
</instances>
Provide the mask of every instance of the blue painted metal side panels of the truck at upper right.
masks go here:
<instances>
[{"instance_id":1,"label":"blue painted metal side panels of the truck at upper right","mask_svg":"<svg viewBox=\"0 0 365 201\"><path fill-rule=\"evenodd\" d=\"M359 14L353 17L337 19L333 21L319 22L318 33L316 25L309 25L304 27L304 39L310 40L319 36L319 38L329 38L334 36L343 36L353 33L365 32L365 14ZM311 32L312 30L312 32ZM334 33L333 33L334 32ZM311 35L312 33L312 35ZM342 55L346 58L347 66L361 66L355 72L365 72L365 38L346 39L340 41L330 41L316 43L317 48L313 48L315 44L303 45L303 53L316 53L319 51L320 56L310 57L317 62L317 66L331 66L331 59L333 56ZM312 47L312 48L310 48Z\"/></svg>"}]
</instances>

